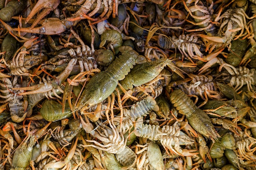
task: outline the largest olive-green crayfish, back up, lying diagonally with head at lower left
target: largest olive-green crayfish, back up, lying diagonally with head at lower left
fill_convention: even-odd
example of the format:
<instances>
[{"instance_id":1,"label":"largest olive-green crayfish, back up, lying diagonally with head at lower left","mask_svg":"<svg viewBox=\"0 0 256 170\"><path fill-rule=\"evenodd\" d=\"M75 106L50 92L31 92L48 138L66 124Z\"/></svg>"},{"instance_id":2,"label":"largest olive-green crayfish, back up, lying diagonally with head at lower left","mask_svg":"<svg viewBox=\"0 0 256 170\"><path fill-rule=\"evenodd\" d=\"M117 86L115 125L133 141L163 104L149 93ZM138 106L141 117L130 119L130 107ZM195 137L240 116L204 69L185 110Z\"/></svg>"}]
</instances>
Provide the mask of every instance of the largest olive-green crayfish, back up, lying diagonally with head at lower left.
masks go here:
<instances>
[{"instance_id":1,"label":"largest olive-green crayfish, back up, lying diagonally with head at lower left","mask_svg":"<svg viewBox=\"0 0 256 170\"><path fill-rule=\"evenodd\" d=\"M121 46L119 51L121 55L108 66L106 71L93 76L90 82L85 84L85 89L76 105L81 113L111 95L115 91L118 81L124 79L135 65L139 54L132 50L132 47Z\"/></svg>"}]
</instances>

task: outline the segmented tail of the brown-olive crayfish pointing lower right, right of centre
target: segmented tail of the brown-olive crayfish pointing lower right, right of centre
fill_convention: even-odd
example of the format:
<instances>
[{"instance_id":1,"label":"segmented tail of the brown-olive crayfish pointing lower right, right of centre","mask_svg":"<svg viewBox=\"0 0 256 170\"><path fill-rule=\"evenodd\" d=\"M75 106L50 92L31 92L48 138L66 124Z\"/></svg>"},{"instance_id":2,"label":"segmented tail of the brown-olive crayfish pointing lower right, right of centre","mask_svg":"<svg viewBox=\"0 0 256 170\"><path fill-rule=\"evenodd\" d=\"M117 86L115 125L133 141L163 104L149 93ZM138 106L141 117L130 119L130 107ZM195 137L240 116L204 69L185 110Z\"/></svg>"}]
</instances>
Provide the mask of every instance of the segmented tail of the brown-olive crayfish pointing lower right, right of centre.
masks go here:
<instances>
[{"instance_id":1,"label":"segmented tail of the brown-olive crayfish pointing lower right, right of centre","mask_svg":"<svg viewBox=\"0 0 256 170\"><path fill-rule=\"evenodd\" d=\"M198 109L193 101L180 89L171 93L170 101L180 114L191 116Z\"/></svg>"}]
</instances>

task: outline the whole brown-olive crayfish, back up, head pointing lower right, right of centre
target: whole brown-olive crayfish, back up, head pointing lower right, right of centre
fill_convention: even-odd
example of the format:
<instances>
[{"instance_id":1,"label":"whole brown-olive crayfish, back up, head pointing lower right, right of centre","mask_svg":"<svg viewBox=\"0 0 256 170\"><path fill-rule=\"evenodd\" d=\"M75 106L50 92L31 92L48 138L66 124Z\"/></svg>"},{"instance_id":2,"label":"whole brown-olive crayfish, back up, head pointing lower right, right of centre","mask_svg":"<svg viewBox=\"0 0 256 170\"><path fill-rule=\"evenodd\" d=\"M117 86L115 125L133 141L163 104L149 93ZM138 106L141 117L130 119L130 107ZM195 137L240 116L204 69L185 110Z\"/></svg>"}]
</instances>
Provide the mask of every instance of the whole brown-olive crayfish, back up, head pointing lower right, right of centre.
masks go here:
<instances>
[{"instance_id":1,"label":"whole brown-olive crayfish, back up, head pointing lower right, right of centre","mask_svg":"<svg viewBox=\"0 0 256 170\"><path fill-rule=\"evenodd\" d=\"M200 134L211 138L214 142L220 135L215 131L211 119L180 89L171 93L170 101L180 114L186 115L189 124Z\"/></svg>"}]
</instances>

